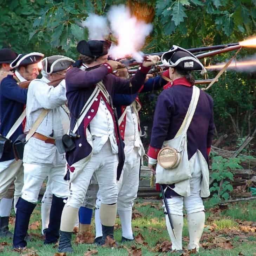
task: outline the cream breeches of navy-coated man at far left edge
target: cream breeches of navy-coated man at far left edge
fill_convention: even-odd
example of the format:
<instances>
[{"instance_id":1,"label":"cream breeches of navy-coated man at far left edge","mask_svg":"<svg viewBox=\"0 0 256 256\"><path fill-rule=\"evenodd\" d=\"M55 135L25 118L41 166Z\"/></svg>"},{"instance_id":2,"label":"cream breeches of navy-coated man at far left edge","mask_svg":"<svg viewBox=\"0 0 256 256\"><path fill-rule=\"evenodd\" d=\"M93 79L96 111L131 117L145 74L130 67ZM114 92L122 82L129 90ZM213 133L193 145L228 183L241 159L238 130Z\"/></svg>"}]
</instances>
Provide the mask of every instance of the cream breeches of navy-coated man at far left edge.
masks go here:
<instances>
[{"instance_id":1,"label":"cream breeches of navy-coated man at far left edge","mask_svg":"<svg viewBox=\"0 0 256 256\"><path fill-rule=\"evenodd\" d=\"M19 197L23 186L22 160L16 161L13 159L0 162L0 199L5 196L13 180L15 186L14 196Z\"/></svg>"}]
</instances>

